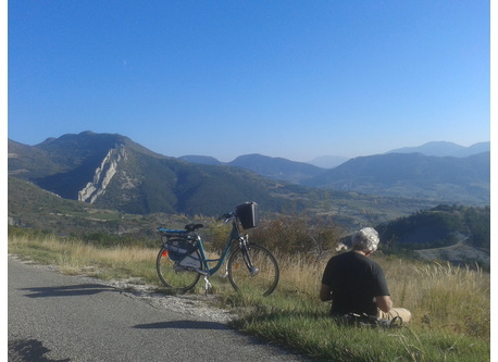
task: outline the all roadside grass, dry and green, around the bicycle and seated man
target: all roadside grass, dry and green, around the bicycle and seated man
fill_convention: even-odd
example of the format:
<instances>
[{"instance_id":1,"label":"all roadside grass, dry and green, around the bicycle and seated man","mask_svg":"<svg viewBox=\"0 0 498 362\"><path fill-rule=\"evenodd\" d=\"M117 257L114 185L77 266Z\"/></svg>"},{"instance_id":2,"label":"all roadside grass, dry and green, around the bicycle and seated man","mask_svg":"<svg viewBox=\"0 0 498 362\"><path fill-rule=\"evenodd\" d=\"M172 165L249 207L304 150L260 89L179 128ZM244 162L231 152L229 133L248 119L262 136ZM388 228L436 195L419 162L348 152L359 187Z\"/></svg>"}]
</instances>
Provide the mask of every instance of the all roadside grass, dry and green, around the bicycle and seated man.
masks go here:
<instances>
[{"instance_id":1,"label":"all roadside grass, dry and green, around the bicycle and seated man","mask_svg":"<svg viewBox=\"0 0 498 362\"><path fill-rule=\"evenodd\" d=\"M164 290L155 274L157 249L97 248L50 235L9 236L9 252L62 273L104 279L141 278ZM281 283L270 297L240 295L226 278L211 277L216 303L238 317L233 325L273 344L332 361L489 361L489 274L478 269L416 263L376 255L396 307L413 314L401 328L345 326L318 298L326 260L277 255ZM202 279L195 292L203 292Z\"/></svg>"}]
</instances>

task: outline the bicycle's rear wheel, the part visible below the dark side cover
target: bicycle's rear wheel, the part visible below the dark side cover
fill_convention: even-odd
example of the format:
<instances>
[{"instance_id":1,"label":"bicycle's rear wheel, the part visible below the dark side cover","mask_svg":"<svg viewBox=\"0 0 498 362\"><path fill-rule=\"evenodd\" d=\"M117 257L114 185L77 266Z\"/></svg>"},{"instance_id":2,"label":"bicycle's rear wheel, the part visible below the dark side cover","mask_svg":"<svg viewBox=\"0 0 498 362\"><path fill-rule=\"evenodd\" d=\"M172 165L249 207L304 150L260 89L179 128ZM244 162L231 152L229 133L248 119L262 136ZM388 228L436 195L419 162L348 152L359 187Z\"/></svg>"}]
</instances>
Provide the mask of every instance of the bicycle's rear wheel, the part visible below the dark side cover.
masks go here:
<instances>
[{"instance_id":1,"label":"bicycle's rear wheel, the part visible below the dark side cover","mask_svg":"<svg viewBox=\"0 0 498 362\"><path fill-rule=\"evenodd\" d=\"M200 260L200 254L196 250L195 257ZM178 262L171 260L166 248L162 247L158 253L155 269L162 284L175 291L185 292L192 289L199 282L200 274L183 267Z\"/></svg>"}]
</instances>

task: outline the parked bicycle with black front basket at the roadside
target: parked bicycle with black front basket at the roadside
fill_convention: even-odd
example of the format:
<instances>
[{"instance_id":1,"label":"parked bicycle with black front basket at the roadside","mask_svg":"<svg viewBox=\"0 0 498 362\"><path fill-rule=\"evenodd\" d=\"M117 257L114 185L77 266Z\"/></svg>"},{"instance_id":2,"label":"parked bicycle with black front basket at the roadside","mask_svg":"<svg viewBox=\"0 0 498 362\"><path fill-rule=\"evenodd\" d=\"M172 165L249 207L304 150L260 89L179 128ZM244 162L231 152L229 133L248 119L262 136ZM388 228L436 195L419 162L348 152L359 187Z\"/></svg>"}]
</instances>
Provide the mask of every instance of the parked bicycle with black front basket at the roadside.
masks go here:
<instances>
[{"instance_id":1,"label":"parked bicycle with black front basket at the roadside","mask_svg":"<svg viewBox=\"0 0 498 362\"><path fill-rule=\"evenodd\" d=\"M217 259L208 259L206 255L199 235L202 224L188 224L185 229L159 227L162 247L155 265L162 284L171 290L186 292L203 276L208 294L212 288L208 278L222 267L228 255L225 274L222 276L228 276L235 290L270 296L279 279L276 259L264 247L250 244L249 236L242 235L241 230L257 226L257 207L256 202L246 202L237 205L235 212L225 213L219 219L225 223L232 222L232 232ZM210 263L215 265L210 267Z\"/></svg>"}]
</instances>

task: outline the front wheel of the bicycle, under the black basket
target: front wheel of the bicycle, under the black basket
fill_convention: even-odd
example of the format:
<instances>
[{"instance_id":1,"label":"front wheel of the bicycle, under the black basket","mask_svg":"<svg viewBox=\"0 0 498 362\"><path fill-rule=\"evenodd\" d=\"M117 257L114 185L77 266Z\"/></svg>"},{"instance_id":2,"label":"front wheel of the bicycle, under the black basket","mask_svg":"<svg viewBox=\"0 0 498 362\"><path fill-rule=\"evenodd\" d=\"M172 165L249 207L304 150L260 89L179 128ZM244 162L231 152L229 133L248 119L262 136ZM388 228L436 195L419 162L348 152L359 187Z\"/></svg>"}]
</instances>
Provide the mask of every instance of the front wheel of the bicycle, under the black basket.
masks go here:
<instances>
[{"instance_id":1,"label":"front wheel of the bicycle, under the black basket","mask_svg":"<svg viewBox=\"0 0 498 362\"><path fill-rule=\"evenodd\" d=\"M228 259L228 279L237 291L270 296L278 278L276 259L259 245L237 248Z\"/></svg>"}]
</instances>

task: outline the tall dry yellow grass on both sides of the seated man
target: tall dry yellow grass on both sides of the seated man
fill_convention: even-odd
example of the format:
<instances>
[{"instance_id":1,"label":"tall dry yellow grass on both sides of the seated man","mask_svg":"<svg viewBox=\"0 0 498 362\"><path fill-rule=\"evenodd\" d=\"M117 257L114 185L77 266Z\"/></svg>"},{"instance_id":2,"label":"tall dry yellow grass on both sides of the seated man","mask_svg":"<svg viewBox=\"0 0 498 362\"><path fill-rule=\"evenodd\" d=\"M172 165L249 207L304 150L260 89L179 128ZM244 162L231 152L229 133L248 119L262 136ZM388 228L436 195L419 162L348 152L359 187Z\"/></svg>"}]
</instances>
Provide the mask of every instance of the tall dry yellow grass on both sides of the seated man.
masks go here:
<instances>
[{"instance_id":1,"label":"tall dry yellow grass on both sides of the seated man","mask_svg":"<svg viewBox=\"0 0 498 362\"><path fill-rule=\"evenodd\" d=\"M278 257L279 290L298 291L316 302L327 259ZM490 330L490 276L477 266L426 263L375 255L383 266L395 307L410 310L413 323L488 336ZM328 307L325 307L328 308Z\"/></svg>"}]
</instances>

